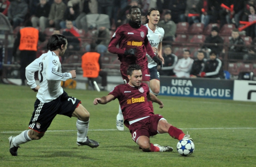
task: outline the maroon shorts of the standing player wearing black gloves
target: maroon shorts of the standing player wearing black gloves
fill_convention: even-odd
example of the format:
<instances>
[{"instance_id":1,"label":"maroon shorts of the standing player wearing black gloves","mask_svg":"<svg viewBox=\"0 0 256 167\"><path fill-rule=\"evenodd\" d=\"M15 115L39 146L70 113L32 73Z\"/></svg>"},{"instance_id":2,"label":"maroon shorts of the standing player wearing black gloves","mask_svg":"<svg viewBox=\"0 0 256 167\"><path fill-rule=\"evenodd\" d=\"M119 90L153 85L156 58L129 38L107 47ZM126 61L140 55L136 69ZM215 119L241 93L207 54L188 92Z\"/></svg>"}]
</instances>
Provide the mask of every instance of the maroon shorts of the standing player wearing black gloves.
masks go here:
<instances>
[{"instance_id":1,"label":"maroon shorts of the standing player wearing black gloves","mask_svg":"<svg viewBox=\"0 0 256 167\"><path fill-rule=\"evenodd\" d=\"M121 71L122 78L125 79L128 83L129 79L127 77L127 69L128 69L128 66L122 65L122 64L120 65L120 71ZM142 81L150 81L150 72L149 72L148 67L147 66L142 67L141 71L142 71Z\"/></svg>"}]
</instances>

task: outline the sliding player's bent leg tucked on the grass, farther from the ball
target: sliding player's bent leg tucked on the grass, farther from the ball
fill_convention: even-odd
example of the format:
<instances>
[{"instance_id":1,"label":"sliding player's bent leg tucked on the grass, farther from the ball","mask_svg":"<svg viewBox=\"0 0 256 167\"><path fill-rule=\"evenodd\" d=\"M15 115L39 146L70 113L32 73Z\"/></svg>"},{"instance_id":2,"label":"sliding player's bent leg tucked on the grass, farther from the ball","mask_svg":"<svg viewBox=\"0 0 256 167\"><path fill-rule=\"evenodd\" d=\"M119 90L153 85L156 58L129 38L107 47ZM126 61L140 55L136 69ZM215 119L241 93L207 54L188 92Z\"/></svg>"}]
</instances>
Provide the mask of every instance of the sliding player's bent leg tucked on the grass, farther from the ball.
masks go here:
<instances>
[{"instance_id":1,"label":"sliding player's bent leg tucked on the grass, farther from the ball","mask_svg":"<svg viewBox=\"0 0 256 167\"><path fill-rule=\"evenodd\" d=\"M147 136L138 137L137 144L142 148L143 152L165 152L173 151L170 146L161 146L158 144L150 143L150 139Z\"/></svg>"}]
</instances>

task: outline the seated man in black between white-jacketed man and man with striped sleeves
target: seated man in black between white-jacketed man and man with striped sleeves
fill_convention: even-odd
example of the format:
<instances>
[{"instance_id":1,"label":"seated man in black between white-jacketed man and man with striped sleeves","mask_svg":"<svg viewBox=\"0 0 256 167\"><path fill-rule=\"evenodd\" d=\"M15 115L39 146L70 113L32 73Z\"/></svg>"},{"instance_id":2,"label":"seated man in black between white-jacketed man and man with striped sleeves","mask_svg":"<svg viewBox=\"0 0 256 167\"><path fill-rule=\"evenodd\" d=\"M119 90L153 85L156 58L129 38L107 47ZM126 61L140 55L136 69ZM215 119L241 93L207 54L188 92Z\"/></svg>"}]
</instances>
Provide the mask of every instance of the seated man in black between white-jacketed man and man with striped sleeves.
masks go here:
<instances>
[{"instance_id":1,"label":"seated man in black between white-jacketed man and man with striped sleeves","mask_svg":"<svg viewBox=\"0 0 256 167\"><path fill-rule=\"evenodd\" d=\"M204 69L204 63L206 62L206 58L204 58L204 52L202 50L197 52L197 59L194 60L191 71L190 77L196 78L199 76L199 73Z\"/></svg>"}]
</instances>

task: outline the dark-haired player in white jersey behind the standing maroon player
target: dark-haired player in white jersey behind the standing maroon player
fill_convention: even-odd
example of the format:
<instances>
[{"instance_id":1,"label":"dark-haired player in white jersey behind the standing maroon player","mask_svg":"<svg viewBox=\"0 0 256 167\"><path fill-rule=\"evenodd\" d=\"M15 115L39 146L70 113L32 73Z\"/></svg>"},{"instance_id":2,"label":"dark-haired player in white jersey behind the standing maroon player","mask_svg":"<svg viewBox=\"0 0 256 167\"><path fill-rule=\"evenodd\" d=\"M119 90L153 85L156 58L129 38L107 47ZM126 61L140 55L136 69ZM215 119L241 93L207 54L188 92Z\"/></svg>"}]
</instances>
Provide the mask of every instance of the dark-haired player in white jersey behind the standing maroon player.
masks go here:
<instances>
[{"instance_id":1,"label":"dark-haired player in white jersey behind the standing maroon player","mask_svg":"<svg viewBox=\"0 0 256 167\"><path fill-rule=\"evenodd\" d=\"M162 39L165 31L163 28L157 26L159 19L160 13L158 9L151 8L147 13L147 24L144 26L148 28L147 38L153 51L155 54L158 54L158 58L161 59L162 64L164 64L164 59L162 57ZM160 66L157 67L157 63L155 63L148 54L146 54L146 56L148 59L148 69L150 71L150 92L157 96L160 92L160 76L157 69L159 69ZM154 111L152 101L148 102L148 104L150 105L151 110Z\"/></svg>"}]
</instances>

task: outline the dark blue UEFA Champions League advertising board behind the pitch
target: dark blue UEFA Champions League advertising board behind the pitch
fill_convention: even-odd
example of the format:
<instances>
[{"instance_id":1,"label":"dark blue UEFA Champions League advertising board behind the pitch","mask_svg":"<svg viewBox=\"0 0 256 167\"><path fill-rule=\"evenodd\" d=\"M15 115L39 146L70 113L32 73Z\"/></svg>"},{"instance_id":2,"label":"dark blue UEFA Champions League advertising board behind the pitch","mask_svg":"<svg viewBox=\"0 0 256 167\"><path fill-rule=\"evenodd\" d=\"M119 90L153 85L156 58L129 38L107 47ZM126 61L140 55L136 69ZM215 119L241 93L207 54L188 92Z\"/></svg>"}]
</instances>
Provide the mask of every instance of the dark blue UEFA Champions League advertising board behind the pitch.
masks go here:
<instances>
[{"instance_id":1,"label":"dark blue UEFA Champions League advertising board behind the pitch","mask_svg":"<svg viewBox=\"0 0 256 167\"><path fill-rule=\"evenodd\" d=\"M233 99L234 81L160 76L159 95Z\"/></svg>"}]
</instances>

